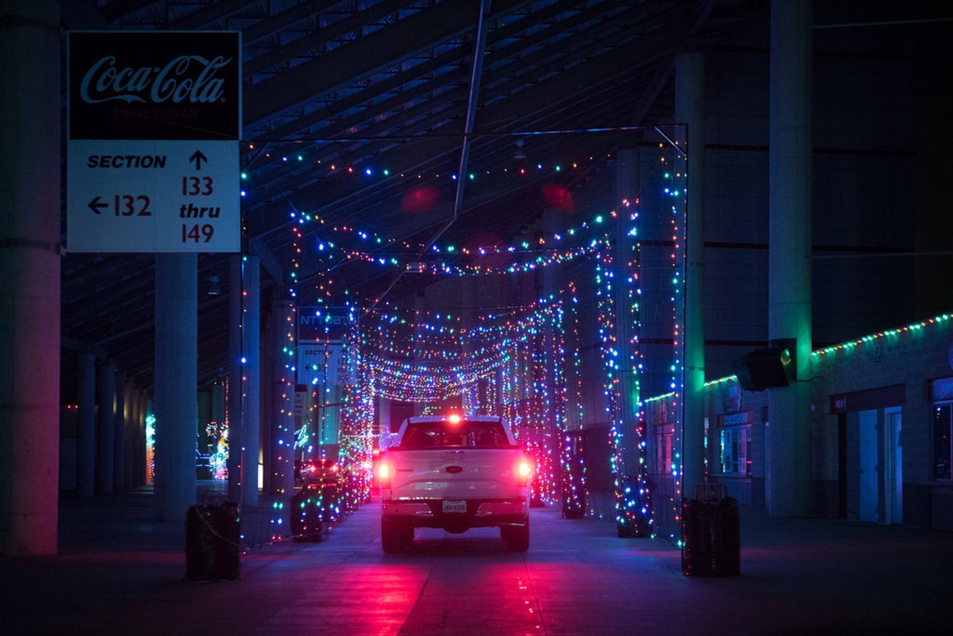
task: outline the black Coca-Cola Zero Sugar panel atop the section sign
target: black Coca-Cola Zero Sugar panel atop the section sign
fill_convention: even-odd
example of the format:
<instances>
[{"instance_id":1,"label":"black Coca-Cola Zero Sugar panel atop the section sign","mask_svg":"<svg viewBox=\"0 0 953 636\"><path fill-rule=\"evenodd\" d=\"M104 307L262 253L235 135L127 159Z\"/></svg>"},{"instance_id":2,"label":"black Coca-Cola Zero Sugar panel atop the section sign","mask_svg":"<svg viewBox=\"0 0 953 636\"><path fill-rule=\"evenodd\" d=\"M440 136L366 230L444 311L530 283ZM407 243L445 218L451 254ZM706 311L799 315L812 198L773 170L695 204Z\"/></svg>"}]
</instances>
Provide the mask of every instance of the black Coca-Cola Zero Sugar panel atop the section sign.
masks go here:
<instances>
[{"instance_id":1,"label":"black Coca-Cola Zero Sugar panel atop the section sign","mask_svg":"<svg viewBox=\"0 0 953 636\"><path fill-rule=\"evenodd\" d=\"M236 31L71 31L71 139L238 139Z\"/></svg>"}]
</instances>

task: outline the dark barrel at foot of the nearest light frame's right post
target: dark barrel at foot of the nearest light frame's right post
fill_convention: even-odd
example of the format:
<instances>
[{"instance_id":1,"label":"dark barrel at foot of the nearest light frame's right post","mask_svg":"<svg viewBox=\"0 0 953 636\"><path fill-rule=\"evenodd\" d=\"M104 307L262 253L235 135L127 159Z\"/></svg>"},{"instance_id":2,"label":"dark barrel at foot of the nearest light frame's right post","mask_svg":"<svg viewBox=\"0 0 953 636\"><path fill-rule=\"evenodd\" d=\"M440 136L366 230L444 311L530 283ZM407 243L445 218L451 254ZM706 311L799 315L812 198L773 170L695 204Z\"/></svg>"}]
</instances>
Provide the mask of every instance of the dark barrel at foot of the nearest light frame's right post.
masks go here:
<instances>
[{"instance_id":1,"label":"dark barrel at foot of the nearest light frame's right post","mask_svg":"<svg viewBox=\"0 0 953 636\"><path fill-rule=\"evenodd\" d=\"M737 576L741 571L738 501L686 498L682 504L681 571L689 576Z\"/></svg>"}]
</instances>

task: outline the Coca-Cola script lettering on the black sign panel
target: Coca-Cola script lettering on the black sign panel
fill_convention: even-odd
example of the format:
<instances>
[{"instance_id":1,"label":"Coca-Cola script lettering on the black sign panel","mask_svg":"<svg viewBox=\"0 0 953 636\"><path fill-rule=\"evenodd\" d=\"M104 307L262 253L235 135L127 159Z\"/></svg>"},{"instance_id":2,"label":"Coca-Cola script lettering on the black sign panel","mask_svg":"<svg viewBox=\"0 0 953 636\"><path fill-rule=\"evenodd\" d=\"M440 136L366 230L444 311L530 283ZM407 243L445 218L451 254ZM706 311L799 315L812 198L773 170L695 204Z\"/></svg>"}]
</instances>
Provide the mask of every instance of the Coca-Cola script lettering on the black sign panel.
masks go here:
<instances>
[{"instance_id":1,"label":"Coca-Cola script lettering on the black sign panel","mask_svg":"<svg viewBox=\"0 0 953 636\"><path fill-rule=\"evenodd\" d=\"M221 99L225 80L215 75L232 60L222 55L211 60L200 55L179 55L164 67L120 69L115 56L106 55L86 71L79 94L88 104L114 100L145 103L144 95L155 104L169 100L176 104L184 101L208 104Z\"/></svg>"}]
</instances>

